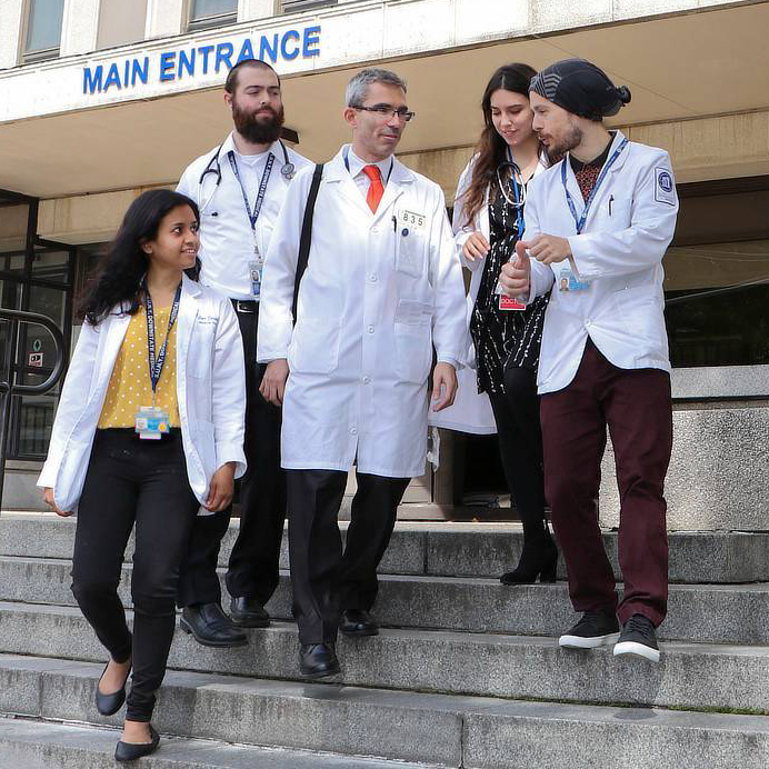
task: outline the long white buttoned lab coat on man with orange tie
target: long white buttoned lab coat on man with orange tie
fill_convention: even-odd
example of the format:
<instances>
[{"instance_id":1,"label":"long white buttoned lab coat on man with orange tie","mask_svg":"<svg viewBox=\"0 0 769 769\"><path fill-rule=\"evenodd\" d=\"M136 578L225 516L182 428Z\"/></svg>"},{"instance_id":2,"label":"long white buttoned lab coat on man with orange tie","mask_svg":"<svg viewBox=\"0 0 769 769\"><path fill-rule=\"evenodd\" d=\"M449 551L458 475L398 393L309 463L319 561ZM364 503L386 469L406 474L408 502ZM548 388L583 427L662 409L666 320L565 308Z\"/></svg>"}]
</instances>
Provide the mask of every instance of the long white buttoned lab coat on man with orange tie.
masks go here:
<instances>
[{"instance_id":1,"label":"long white buttoned lab coat on man with orange tie","mask_svg":"<svg viewBox=\"0 0 769 769\"><path fill-rule=\"evenodd\" d=\"M419 476L433 344L439 361L461 364L467 354L465 290L443 194L396 159L372 214L340 151L323 170L292 328L311 178L306 169L289 188L259 317L258 360L288 358L290 369L282 465L347 471L357 458L360 472ZM403 223L407 211L416 223Z\"/></svg>"}]
</instances>

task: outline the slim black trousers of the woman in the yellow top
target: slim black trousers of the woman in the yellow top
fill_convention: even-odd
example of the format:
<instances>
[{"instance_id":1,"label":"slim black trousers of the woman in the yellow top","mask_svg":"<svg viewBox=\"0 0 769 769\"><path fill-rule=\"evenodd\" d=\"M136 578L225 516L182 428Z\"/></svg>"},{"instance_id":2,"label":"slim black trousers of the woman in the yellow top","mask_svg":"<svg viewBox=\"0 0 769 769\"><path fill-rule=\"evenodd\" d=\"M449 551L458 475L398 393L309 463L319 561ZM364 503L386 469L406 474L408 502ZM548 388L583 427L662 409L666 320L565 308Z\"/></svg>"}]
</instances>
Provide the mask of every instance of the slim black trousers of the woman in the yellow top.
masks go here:
<instances>
[{"instance_id":1,"label":"slim black trousers of the woman in the yellow top","mask_svg":"<svg viewBox=\"0 0 769 769\"><path fill-rule=\"evenodd\" d=\"M199 503L187 478L181 432L140 440L132 429L97 430L74 536L72 592L112 659L133 658L126 718L149 721L176 623L177 586ZM118 597L136 523L133 638Z\"/></svg>"}]
</instances>

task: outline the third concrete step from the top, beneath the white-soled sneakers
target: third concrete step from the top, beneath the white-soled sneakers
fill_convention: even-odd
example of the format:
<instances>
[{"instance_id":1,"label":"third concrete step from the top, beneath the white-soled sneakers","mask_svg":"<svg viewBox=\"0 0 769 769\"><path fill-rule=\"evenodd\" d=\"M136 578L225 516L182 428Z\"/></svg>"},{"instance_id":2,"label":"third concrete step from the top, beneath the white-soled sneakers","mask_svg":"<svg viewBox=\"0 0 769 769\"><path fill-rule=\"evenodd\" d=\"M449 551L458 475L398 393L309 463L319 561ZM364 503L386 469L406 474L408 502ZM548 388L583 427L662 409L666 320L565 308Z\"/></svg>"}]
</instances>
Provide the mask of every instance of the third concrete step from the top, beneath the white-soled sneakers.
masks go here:
<instances>
[{"instance_id":1,"label":"third concrete step from the top, beneath the white-soled sneakers","mask_svg":"<svg viewBox=\"0 0 769 769\"><path fill-rule=\"evenodd\" d=\"M296 626L250 631L240 649L200 647L177 630L176 669L301 680ZM555 638L388 629L340 638L339 682L482 697L769 712L769 647L667 642L659 665L573 651ZM86 661L106 652L78 609L0 603L0 651ZM102 662L103 665L103 662ZM2 687L0 686L0 689Z\"/></svg>"}]
</instances>

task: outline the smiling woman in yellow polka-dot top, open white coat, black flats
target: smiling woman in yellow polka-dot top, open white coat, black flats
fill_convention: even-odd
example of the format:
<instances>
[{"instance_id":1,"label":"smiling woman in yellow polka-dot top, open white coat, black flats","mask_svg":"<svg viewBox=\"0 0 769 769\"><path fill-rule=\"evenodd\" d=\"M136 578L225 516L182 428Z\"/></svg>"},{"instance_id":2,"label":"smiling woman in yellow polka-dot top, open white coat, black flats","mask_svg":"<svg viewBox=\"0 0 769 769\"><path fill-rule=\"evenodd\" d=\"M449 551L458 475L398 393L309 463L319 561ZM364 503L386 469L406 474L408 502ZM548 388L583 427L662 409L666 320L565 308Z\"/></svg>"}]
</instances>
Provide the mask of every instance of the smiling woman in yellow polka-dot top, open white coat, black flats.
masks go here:
<instances>
[{"instance_id":1,"label":"smiling woman in yellow polka-dot top, open white coat, black flats","mask_svg":"<svg viewBox=\"0 0 769 769\"><path fill-rule=\"evenodd\" d=\"M128 209L81 300L38 481L58 515L78 510L72 592L110 653L97 709L128 701L118 761L158 747L150 719L192 522L224 509L246 469L242 343L230 302L197 282L198 226L197 206L170 190ZM131 635L118 585L134 525Z\"/></svg>"}]
</instances>

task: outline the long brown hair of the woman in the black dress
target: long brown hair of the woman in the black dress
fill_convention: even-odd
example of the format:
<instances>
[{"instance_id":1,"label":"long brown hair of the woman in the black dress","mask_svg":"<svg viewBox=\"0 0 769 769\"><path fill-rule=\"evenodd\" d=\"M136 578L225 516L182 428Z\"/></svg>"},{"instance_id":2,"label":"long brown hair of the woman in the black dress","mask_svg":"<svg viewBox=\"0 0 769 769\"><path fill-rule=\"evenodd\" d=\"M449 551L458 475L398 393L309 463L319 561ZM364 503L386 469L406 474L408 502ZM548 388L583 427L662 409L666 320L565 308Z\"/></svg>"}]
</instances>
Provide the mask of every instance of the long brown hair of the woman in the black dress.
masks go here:
<instances>
[{"instance_id":1,"label":"long brown hair of the woman in the black dress","mask_svg":"<svg viewBox=\"0 0 769 769\"><path fill-rule=\"evenodd\" d=\"M472 164L470 186L462 196L463 211L467 221L460 222L460 224L469 224L475 220L476 214L483 206L486 190L493 179L497 168L501 162L507 160L507 142L499 136L491 121L491 94L495 91L503 89L506 91L512 91L513 93L521 93L528 99L529 83L535 74L537 74L537 70L529 67L529 64L505 64L505 67L500 67L491 76L483 91L481 109L483 110L483 122L486 127L476 147L476 159Z\"/></svg>"}]
</instances>

